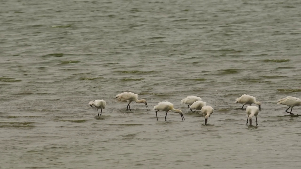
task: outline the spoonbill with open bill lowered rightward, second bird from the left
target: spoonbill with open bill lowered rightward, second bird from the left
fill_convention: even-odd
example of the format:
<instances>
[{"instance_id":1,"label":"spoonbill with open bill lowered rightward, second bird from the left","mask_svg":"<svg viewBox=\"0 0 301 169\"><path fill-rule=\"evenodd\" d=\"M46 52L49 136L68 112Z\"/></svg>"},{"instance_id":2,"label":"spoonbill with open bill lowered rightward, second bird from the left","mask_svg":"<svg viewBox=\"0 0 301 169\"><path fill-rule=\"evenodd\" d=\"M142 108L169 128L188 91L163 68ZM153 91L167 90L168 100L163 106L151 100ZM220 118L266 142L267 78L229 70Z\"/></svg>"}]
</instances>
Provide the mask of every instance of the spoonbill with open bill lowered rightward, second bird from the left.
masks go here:
<instances>
[{"instance_id":1,"label":"spoonbill with open bill lowered rightward, second bird from the left","mask_svg":"<svg viewBox=\"0 0 301 169\"><path fill-rule=\"evenodd\" d=\"M138 94L135 94L135 93L132 93L132 92L123 92L123 93L120 93L120 94L117 94L115 96L119 101L122 101L122 102L126 102L128 103L128 106L126 106L126 109L130 109L131 110L131 107L130 107L130 103L132 101L136 102L136 103L144 103L145 106L146 106L146 109L149 110L150 108L147 106L147 103L146 103L146 100L144 99L140 99L138 100Z\"/></svg>"}]
</instances>

